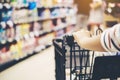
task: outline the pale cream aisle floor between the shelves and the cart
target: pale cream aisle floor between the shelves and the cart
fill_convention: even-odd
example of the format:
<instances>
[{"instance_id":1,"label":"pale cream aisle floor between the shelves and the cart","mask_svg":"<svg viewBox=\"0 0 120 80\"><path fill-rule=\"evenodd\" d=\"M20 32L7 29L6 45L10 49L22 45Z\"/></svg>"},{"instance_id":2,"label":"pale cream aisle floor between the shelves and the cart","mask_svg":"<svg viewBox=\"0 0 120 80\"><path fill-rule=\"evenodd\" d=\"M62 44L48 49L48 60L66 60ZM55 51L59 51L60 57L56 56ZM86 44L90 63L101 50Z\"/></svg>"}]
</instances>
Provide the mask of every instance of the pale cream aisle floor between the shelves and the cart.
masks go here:
<instances>
[{"instance_id":1,"label":"pale cream aisle floor between the shelves and the cart","mask_svg":"<svg viewBox=\"0 0 120 80\"><path fill-rule=\"evenodd\" d=\"M0 80L55 80L53 46L0 73Z\"/></svg>"}]
</instances>

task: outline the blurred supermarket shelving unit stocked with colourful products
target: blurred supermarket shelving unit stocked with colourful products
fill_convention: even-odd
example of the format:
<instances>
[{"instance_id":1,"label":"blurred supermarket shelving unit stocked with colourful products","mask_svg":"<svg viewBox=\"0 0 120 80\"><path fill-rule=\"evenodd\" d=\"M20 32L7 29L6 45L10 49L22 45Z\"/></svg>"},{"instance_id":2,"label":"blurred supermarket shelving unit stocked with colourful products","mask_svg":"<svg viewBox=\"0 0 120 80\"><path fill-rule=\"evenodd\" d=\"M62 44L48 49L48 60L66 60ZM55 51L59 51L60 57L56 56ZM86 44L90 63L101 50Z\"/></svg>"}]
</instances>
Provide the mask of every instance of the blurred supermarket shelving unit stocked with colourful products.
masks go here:
<instances>
[{"instance_id":1,"label":"blurred supermarket shelving unit stocked with colourful products","mask_svg":"<svg viewBox=\"0 0 120 80\"><path fill-rule=\"evenodd\" d=\"M0 71L72 32L77 8L73 0L1 0Z\"/></svg>"}]
</instances>

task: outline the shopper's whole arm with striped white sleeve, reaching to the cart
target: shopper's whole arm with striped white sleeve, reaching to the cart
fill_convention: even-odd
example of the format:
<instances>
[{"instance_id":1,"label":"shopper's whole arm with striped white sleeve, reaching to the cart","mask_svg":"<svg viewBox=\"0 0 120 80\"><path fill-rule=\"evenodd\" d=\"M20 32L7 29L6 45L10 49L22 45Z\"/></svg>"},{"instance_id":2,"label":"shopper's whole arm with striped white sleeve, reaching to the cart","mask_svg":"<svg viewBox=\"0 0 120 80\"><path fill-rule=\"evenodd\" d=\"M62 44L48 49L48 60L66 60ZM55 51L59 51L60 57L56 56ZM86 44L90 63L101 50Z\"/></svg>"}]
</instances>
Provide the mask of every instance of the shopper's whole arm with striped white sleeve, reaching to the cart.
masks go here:
<instances>
[{"instance_id":1,"label":"shopper's whole arm with striped white sleeve, reaching to the cart","mask_svg":"<svg viewBox=\"0 0 120 80\"><path fill-rule=\"evenodd\" d=\"M101 35L90 37L90 32L74 32L77 43L85 49L101 52L120 52L120 23L106 29Z\"/></svg>"}]
</instances>

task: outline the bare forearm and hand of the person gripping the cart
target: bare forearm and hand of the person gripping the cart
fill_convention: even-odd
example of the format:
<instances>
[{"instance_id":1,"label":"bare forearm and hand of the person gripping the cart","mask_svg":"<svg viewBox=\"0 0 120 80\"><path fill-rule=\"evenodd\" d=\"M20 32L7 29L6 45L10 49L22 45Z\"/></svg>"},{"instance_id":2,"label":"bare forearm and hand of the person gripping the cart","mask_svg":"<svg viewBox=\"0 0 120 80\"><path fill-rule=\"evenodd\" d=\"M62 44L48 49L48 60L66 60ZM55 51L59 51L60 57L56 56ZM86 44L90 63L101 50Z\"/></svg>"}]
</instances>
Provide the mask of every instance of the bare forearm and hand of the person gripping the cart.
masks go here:
<instances>
[{"instance_id":1,"label":"bare forearm and hand of the person gripping the cart","mask_svg":"<svg viewBox=\"0 0 120 80\"><path fill-rule=\"evenodd\" d=\"M100 43L101 35L90 37L90 32L81 30L81 31L73 33L73 36L76 42L82 48L85 48L88 50L105 52L104 48L102 47Z\"/></svg>"}]
</instances>

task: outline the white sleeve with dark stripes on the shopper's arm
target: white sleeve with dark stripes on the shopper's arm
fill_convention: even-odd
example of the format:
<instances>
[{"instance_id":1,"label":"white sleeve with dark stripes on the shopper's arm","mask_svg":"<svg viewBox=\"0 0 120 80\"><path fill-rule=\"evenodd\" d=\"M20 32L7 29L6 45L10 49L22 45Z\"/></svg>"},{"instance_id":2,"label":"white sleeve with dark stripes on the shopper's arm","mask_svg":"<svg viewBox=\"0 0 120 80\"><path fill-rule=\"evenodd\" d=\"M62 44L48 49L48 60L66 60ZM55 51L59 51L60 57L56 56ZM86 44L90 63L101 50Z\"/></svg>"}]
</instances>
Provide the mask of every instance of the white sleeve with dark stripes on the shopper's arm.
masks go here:
<instances>
[{"instance_id":1,"label":"white sleeve with dark stripes on the shopper's arm","mask_svg":"<svg viewBox=\"0 0 120 80\"><path fill-rule=\"evenodd\" d=\"M101 35L101 45L108 52L120 52L120 24L106 29Z\"/></svg>"}]
</instances>

